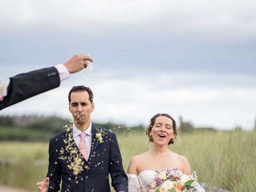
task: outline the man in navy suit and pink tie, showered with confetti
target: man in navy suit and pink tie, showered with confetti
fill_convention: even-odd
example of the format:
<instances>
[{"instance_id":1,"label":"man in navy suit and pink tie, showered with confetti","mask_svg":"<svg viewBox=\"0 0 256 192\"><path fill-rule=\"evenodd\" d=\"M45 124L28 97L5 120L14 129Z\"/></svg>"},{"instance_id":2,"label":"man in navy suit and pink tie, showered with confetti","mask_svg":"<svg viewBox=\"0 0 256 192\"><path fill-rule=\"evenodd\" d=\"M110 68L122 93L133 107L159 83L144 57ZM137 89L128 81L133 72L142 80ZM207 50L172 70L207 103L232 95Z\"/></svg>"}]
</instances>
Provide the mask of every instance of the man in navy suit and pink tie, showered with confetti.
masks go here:
<instances>
[{"instance_id":1,"label":"man in navy suit and pink tie, showered with confetti","mask_svg":"<svg viewBox=\"0 0 256 192\"><path fill-rule=\"evenodd\" d=\"M101 128L91 123L92 90L74 86L68 101L74 124L50 139L47 178L36 184L38 192L60 190L61 179L62 192L110 192L108 174L116 192L128 192L116 134L99 134Z\"/></svg>"}]
</instances>

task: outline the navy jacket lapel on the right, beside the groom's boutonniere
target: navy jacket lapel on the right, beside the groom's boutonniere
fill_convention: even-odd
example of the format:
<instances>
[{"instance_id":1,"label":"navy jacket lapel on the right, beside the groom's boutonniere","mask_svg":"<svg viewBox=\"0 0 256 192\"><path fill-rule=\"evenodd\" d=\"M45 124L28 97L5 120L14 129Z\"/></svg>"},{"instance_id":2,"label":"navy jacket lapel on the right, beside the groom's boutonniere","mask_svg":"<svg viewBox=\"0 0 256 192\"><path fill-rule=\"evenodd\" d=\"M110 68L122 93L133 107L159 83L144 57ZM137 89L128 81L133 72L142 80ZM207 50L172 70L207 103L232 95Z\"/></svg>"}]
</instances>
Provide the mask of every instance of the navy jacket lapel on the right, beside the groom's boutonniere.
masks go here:
<instances>
[{"instance_id":1,"label":"navy jacket lapel on the right, beside the groom's boutonniere","mask_svg":"<svg viewBox=\"0 0 256 192\"><path fill-rule=\"evenodd\" d=\"M92 164L98 153L98 148L100 147L98 144L97 148L94 150L94 147L97 143L95 136L96 136L96 126L92 124L92 143L91 143L91 151L90 151L90 156L88 160L88 168L86 169L86 174L90 171Z\"/></svg>"}]
</instances>

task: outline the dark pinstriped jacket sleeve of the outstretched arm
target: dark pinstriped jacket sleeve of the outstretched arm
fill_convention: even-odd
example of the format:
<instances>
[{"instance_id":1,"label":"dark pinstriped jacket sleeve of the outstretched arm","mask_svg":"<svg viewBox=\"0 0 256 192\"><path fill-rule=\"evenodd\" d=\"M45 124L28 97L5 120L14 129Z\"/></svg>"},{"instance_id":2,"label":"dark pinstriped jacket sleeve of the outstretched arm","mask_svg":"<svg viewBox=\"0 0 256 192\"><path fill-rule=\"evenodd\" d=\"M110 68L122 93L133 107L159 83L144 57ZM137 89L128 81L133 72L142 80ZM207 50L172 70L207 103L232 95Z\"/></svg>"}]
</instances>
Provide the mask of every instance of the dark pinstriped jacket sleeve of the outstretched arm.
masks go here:
<instances>
[{"instance_id":1,"label":"dark pinstriped jacket sleeve of the outstretched arm","mask_svg":"<svg viewBox=\"0 0 256 192\"><path fill-rule=\"evenodd\" d=\"M60 76L55 67L34 70L10 78L7 95L0 102L0 110L60 86Z\"/></svg>"}]
</instances>

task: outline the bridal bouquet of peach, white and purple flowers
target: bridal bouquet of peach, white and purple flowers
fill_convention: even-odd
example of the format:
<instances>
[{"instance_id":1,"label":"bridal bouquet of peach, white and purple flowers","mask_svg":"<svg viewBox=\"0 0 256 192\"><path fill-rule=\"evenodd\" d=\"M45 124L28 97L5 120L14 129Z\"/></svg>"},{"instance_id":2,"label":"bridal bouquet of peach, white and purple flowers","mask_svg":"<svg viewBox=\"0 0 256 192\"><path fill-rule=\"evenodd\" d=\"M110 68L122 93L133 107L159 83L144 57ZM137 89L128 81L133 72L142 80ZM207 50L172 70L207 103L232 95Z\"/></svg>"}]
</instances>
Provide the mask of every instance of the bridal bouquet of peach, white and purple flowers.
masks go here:
<instances>
[{"instance_id":1,"label":"bridal bouquet of peach, white and purple flowers","mask_svg":"<svg viewBox=\"0 0 256 192\"><path fill-rule=\"evenodd\" d=\"M160 170L151 184L150 192L204 192L196 180L196 172L189 175L177 168Z\"/></svg>"}]
</instances>

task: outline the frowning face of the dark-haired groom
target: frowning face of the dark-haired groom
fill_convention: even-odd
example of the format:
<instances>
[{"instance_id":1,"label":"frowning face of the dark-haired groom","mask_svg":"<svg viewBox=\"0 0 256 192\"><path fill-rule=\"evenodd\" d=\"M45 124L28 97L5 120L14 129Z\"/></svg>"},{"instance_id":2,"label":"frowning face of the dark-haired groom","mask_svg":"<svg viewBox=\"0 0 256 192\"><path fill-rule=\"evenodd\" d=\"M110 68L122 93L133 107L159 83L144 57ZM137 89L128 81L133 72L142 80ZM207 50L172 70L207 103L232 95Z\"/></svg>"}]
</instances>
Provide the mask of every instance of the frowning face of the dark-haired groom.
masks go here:
<instances>
[{"instance_id":1,"label":"frowning face of the dark-haired groom","mask_svg":"<svg viewBox=\"0 0 256 192\"><path fill-rule=\"evenodd\" d=\"M72 92L70 96L69 111L72 113L74 122L84 125L90 122L91 112L94 110L94 103L90 102L87 91Z\"/></svg>"}]
</instances>

